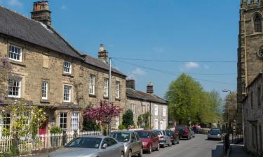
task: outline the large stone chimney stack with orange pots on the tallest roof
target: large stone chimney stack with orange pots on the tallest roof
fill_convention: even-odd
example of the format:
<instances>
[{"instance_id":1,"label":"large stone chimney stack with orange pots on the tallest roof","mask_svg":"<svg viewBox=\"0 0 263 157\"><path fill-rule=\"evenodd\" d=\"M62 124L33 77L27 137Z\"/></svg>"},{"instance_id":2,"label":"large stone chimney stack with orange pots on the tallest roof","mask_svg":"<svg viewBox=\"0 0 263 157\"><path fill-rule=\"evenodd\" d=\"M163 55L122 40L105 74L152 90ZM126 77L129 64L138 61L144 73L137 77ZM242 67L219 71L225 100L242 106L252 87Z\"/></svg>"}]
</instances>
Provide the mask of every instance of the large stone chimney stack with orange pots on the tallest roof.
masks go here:
<instances>
[{"instance_id":1,"label":"large stone chimney stack with orange pots on the tallest roof","mask_svg":"<svg viewBox=\"0 0 263 157\"><path fill-rule=\"evenodd\" d=\"M36 1L34 2L33 11L31 12L31 18L33 20L42 22L47 26L51 25L51 12L49 10L48 1Z\"/></svg>"}]
</instances>

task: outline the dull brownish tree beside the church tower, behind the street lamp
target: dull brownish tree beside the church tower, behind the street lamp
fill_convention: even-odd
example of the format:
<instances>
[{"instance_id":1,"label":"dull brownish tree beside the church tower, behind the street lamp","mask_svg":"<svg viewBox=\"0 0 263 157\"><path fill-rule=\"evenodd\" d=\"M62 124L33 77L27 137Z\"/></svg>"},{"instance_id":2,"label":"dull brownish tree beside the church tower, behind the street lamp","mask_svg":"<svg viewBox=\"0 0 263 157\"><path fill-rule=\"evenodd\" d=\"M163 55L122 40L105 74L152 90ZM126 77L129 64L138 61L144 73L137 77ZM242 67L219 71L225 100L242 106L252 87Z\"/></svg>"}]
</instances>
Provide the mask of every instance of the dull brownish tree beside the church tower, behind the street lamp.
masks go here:
<instances>
[{"instance_id":1,"label":"dull brownish tree beside the church tower, behind the street lamp","mask_svg":"<svg viewBox=\"0 0 263 157\"><path fill-rule=\"evenodd\" d=\"M224 105L224 121L233 123L236 120L236 110L237 110L237 101L236 101L236 92L231 92L225 98L226 105Z\"/></svg>"}]
</instances>

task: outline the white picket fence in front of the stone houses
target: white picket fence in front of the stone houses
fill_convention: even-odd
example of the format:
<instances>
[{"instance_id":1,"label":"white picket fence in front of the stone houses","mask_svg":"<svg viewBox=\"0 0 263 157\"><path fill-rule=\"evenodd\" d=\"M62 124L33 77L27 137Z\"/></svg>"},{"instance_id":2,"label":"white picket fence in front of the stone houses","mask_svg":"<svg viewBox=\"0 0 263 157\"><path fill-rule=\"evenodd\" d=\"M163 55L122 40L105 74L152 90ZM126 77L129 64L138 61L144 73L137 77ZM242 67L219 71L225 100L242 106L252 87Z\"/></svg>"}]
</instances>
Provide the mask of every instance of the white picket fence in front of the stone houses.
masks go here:
<instances>
[{"instance_id":1,"label":"white picket fence in front of the stone houses","mask_svg":"<svg viewBox=\"0 0 263 157\"><path fill-rule=\"evenodd\" d=\"M80 132L81 135L102 135L100 131ZM74 139L74 133L67 133L67 142ZM62 147L63 134L45 134L32 137L20 137L18 148L20 152L36 151L41 149L50 149ZM11 151L13 137L0 137L0 153Z\"/></svg>"}]
</instances>

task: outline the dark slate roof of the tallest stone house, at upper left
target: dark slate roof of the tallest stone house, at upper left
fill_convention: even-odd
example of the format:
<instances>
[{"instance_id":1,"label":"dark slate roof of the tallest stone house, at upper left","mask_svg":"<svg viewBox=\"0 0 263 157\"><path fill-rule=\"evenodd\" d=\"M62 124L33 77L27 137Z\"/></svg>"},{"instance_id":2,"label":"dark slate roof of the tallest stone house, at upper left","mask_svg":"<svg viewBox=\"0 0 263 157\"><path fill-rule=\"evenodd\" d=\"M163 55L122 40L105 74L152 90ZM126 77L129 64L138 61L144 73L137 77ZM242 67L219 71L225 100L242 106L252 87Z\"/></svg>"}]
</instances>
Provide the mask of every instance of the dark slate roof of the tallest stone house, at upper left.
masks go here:
<instances>
[{"instance_id":1,"label":"dark slate roof of the tallest stone house, at upper left","mask_svg":"<svg viewBox=\"0 0 263 157\"><path fill-rule=\"evenodd\" d=\"M52 27L47 29L41 22L31 20L2 6L0 6L0 33L83 59L79 52Z\"/></svg>"}]
</instances>

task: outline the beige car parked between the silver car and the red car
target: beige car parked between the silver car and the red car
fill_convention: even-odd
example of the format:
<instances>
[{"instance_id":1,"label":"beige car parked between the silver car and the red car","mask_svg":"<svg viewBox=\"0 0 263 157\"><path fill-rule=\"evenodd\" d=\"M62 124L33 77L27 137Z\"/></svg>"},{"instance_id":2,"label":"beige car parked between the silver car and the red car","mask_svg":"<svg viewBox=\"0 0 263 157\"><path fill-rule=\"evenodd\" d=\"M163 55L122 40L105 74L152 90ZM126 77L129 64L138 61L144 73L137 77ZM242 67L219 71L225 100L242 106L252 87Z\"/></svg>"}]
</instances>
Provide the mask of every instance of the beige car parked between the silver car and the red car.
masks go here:
<instances>
[{"instance_id":1,"label":"beige car parked between the silver car and the red car","mask_svg":"<svg viewBox=\"0 0 263 157\"><path fill-rule=\"evenodd\" d=\"M123 143L126 157L142 156L142 141L140 141L140 137L135 131L119 130L112 132L109 136Z\"/></svg>"}]
</instances>

